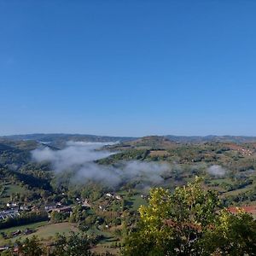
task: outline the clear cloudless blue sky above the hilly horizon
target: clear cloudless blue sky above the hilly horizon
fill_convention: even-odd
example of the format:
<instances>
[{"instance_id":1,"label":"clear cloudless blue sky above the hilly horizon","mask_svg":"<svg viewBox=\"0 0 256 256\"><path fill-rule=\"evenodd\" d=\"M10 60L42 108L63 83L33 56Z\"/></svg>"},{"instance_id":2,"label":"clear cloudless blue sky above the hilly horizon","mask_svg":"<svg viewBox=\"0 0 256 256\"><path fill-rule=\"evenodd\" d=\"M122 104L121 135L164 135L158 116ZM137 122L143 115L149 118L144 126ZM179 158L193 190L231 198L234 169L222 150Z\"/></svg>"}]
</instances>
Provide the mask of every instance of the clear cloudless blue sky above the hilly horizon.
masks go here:
<instances>
[{"instance_id":1,"label":"clear cloudless blue sky above the hilly horizon","mask_svg":"<svg viewBox=\"0 0 256 256\"><path fill-rule=\"evenodd\" d=\"M256 1L0 0L0 135L256 136Z\"/></svg>"}]
</instances>

